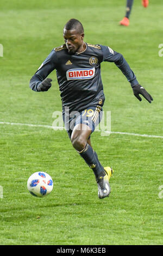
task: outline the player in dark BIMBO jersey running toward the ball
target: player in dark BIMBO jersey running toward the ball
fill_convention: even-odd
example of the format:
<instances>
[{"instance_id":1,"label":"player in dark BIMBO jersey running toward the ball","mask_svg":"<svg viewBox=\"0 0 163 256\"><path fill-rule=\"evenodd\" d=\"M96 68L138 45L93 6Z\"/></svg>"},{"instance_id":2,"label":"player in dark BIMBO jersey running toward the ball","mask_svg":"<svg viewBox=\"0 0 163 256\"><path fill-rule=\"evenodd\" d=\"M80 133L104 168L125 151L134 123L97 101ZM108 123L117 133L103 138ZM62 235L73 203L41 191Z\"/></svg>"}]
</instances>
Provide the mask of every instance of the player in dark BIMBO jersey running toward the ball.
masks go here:
<instances>
[{"instance_id":1,"label":"player in dark BIMBO jersey running toward the ball","mask_svg":"<svg viewBox=\"0 0 163 256\"><path fill-rule=\"evenodd\" d=\"M134 95L139 94L151 103L152 96L140 86L134 72L121 53L108 46L92 45L84 41L82 23L76 19L64 27L65 44L54 48L30 80L35 92L45 92L51 87L47 76L56 69L62 101L62 117L74 149L93 170L98 185L98 197L109 196L111 167L103 167L91 146L91 133L102 117L105 96L101 80L101 63L114 62L131 84ZM68 109L68 110L67 110Z\"/></svg>"}]
</instances>

